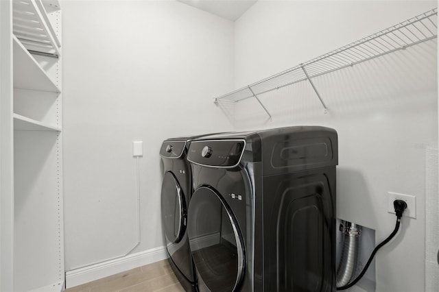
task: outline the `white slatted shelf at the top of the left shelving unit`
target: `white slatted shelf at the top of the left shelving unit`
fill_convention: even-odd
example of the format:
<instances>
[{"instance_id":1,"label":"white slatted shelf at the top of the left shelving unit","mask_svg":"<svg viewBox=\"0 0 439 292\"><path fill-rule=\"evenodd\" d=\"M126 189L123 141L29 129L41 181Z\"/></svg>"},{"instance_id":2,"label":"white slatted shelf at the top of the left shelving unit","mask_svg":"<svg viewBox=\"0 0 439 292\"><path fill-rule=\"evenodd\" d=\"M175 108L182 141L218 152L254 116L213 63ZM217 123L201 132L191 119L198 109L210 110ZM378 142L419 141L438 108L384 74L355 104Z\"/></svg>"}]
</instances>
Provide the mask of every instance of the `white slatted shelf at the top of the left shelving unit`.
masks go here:
<instances>
[{"instance_id":1,"label":"white slatted shelf at the top of the left shelving unit","mask_svg":"<svg viewBox=\"0 0 439 292\"><path fill-rule=\"evenodd\" d=\"M15 0L13 32L31 53L58 58L60 41L51 27L41 0Z\"/></svg>"}]
</instances>

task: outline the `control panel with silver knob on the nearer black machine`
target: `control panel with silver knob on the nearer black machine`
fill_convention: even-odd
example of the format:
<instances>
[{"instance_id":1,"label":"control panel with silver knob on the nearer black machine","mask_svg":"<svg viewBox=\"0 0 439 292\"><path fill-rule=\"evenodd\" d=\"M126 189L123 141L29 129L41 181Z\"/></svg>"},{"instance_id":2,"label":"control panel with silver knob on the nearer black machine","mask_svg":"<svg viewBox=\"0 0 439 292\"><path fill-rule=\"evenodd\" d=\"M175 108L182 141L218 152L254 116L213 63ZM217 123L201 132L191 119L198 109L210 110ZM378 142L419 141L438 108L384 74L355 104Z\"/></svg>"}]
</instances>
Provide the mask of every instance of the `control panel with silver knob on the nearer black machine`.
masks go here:
<instances>
[{"instance_id":1,"label":"control panel with silver knob on the nearer black machine","mask_svg":"<svg viewBox=\"0 0 439 292\"><path fill-rule=\"evenodd\" d=\"M244 140L193 141L187 160L206 167L237 167L245 146Z\"/></svg>"}]
</instances>

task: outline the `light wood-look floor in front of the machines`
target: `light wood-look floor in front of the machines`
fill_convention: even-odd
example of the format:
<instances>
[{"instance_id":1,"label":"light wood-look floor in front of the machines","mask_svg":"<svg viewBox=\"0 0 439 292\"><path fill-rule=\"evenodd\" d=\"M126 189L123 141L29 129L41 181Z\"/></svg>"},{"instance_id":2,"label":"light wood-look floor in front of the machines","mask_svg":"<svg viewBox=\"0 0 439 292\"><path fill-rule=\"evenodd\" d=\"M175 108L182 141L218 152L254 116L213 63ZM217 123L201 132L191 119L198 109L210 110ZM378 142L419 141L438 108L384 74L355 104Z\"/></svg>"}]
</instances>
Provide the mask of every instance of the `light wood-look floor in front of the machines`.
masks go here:
<instances>
[{"instance_id":1,"label":"light wood-look floor in front of the machines","mask_svg":"<svg viewBox=\"0 0 439 292\"><path fill-rule=\"evenodd\" d=\"M168 260L66 289L66 292L185 292Z\"/></svg>"}]
</instances>

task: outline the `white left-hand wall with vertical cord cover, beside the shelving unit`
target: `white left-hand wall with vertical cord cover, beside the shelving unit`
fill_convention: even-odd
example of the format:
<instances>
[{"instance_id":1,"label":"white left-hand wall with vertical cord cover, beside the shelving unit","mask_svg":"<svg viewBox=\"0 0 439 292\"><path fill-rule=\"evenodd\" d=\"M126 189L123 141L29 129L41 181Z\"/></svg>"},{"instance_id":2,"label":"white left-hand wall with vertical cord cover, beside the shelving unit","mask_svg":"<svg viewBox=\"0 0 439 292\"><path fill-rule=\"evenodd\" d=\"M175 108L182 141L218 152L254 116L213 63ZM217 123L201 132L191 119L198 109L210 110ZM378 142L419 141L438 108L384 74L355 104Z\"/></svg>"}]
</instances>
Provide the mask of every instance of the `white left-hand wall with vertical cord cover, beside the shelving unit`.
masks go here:
<instances>
[{"instance_id":1,"label":"white left-hand wall with vertical cord cover, beside the shelving unit","mask_svg":"<svg viewBox=\"0 0 439 292\"><path fill-rule=\"evenodd\" d=\"M62 1L67 271L163 246L158 150L230 130L212 97L233 87L233 23L176 1Z\"/></svg>"}]
</instances>

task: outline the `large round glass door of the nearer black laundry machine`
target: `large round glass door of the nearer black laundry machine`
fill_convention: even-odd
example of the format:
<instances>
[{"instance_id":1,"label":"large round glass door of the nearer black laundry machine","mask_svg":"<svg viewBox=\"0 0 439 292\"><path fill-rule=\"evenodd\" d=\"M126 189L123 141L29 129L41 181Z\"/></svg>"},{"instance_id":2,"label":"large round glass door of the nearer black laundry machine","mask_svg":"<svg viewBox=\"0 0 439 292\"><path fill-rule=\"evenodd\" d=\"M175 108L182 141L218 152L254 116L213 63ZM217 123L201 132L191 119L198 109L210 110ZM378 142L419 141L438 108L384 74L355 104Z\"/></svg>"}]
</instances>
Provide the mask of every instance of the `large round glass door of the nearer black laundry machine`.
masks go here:
<instances>
[{"instance_id":1,"label":"large round glass door of the nearer black laundry machine","mask_svg":"<svg viewBox=\"0 0 439 292\"><path fill-rule=\"evenodd\" d=\"M198 188L191 197L187 226L199 279L210 291L238 291L245 268L244 241L224 197L212 187Z\"/></svg>"}]
</instances>

